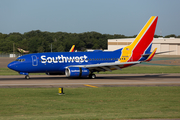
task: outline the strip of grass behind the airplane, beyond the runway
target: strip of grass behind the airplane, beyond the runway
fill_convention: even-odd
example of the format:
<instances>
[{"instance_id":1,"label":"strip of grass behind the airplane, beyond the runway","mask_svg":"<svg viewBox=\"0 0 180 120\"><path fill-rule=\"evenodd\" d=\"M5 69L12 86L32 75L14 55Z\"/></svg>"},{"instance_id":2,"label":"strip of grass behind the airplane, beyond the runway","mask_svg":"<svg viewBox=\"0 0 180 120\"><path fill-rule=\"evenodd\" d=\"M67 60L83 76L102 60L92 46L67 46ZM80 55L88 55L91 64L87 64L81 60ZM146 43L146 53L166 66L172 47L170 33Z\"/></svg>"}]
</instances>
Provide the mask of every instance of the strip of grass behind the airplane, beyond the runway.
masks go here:
<instances>
[{"instance_id":1,"label":"strip of grass behind the airplane, beyond the runway","mask_svg":"<svg viewBox=\"0 0 180 120\"><path fill-rule=\"evenodd\" d=\"M112 72L100 72L100 74L158 74L158 73L180 73L180 66L132 66ZM44 73L33 73L44 75ZM19 75L19 73L8 68L0 68L0 75Z\"/></svg>"}]
</instances>

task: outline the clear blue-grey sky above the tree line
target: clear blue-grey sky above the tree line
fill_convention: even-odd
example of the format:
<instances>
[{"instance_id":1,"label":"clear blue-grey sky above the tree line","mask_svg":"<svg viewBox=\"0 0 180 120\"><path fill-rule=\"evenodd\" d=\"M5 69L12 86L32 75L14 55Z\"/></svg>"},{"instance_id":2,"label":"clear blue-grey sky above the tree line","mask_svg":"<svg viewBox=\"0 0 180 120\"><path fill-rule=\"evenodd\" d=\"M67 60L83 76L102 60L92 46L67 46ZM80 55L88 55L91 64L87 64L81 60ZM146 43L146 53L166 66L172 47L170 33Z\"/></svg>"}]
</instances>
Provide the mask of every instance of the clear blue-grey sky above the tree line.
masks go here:
<instances>
[{"instance_id":1,"label":"clear blue-grey sky above the tree line","mask_svg":"<svg viewBox=\"0 0 180 120\"><path fill-rule=\"evenodd\" d=\"M137 35L158 16L156 35L180 35L180 0L1 0L0 32Z\"/></svg>"}]
</instances>

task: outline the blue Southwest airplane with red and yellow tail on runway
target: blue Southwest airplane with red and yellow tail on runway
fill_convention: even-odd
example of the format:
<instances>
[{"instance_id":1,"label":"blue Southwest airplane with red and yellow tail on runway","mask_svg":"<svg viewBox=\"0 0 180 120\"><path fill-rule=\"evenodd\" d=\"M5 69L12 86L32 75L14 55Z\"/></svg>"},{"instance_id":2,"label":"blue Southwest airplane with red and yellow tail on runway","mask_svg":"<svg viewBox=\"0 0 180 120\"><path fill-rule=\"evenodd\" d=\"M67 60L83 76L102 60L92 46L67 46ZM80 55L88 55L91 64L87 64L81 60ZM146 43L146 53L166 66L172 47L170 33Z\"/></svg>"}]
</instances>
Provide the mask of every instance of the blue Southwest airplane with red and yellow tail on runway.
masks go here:
<instances>
[{"instance_id":1,"label":"blue Southwest airplane with red and yellow tail on runway","mask_svg":"<svg viewBox=\"0 0 180 120\"><path fill-rule=\"evenodd\" d=\"M25 75L46 73L66 75L66 77L96 78L94 72L121 70L141 62L151 61L157 48L151 52L158 16L152 16L135 40L115 51L93 52L47 52L18 57L8 64L8 68Z\"/></svg>"}]
</instances>

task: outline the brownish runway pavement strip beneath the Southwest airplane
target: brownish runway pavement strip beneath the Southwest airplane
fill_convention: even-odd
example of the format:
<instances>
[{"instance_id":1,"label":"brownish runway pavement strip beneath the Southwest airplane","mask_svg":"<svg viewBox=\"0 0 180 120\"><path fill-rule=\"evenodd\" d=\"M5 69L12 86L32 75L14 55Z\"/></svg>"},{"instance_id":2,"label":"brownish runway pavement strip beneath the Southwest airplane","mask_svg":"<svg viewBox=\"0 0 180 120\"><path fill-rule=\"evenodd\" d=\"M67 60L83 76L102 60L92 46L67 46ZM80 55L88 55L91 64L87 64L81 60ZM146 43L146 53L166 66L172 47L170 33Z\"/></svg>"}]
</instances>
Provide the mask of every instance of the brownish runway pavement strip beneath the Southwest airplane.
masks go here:
<instances>
[{"instance_id":1,"label":"brownish runway pavement strip beneath the Southwest airplane","mask_svg":"<svg viewBox=\"0 0 180 120\"><path fill-rule=\"evenodd\" d=\"M0 76L0 87L180 86L180 74L97 74L96 79L63 76Z\"/></svg>"}]
</instances>

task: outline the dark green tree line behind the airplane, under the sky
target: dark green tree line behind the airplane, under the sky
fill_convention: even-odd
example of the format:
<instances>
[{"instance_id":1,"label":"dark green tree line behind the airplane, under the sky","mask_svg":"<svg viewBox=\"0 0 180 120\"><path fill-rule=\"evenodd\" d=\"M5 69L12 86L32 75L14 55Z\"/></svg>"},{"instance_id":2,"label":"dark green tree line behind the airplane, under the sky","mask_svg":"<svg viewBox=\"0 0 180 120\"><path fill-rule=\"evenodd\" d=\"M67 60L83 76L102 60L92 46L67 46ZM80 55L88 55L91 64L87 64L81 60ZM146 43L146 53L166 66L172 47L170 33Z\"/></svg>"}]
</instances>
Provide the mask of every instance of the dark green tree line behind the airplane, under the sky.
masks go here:
<instances>
[{"instance_id":1,"label":"dark green tree line behind the airplane, under the sky","mask_svg":"<svg viewBox=\"0 0 180 120\"><path fill-rule=\"evenodd\" d=\"M12 53L13 47L15 52L17 48L22 48L30 53L51 52L51 44L53 52L69 51L72 45L76 45L78 51L86 49L107 49L107 39L118 38L135 38L134 36L125 36L121 34L101 34L98 32L84 33L66 33L66 32L42 32L33 30L21 33L0 33L0 53ZM162 37L155 35L155 38ZM165 37L178 37L174 34Z\"/></svg>"}]
</instances>

